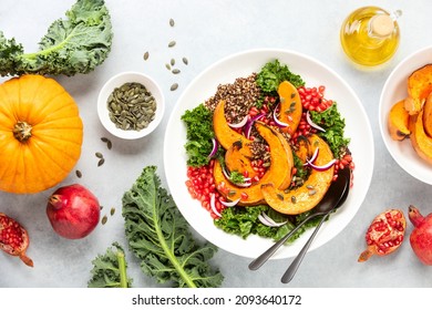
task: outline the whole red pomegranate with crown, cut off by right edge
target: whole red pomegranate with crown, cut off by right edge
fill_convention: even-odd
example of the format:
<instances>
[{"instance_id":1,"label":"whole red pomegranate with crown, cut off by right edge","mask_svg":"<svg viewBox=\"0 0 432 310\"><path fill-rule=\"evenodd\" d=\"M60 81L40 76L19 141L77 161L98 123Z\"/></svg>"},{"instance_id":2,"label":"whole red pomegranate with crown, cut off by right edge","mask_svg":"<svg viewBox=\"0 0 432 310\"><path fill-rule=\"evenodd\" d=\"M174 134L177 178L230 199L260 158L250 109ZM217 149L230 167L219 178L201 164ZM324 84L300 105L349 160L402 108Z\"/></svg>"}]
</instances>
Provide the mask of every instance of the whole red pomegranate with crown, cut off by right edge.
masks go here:
<instances>
[{"instance_id":1,"label":"whole red pomegranate with crown, cut off by right edge","mask_svg":"<svg viewBox=\"0 0 432 310\"><path fill-rule=\"evenodd\" d=\"M408 217L414 229L410 235L410 244L416 257L424 265L432 265L432 214L422 216L414 206L408 208Z\"/></svg>"}]
</instances>

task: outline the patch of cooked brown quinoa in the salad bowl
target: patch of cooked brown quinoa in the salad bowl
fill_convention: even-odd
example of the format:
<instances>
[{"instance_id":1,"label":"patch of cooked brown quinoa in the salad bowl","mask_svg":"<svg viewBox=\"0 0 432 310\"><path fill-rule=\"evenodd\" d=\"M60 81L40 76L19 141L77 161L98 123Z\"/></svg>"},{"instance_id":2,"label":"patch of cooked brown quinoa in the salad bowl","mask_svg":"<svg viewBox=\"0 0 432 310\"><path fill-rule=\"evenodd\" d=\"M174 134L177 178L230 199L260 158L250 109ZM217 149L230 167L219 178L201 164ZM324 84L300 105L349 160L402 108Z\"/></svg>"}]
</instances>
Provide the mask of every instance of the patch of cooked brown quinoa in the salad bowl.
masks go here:
<instances>
[{"instance_id":1,"label":"patch of cooked brown quinoa in the salad bowl","mask_svg":"<svg viewBox=\"0 0 432 310\"><path fill-rule=\"evenodd\" d=\"M261 90L256 84L257 73L247 78L237 78L234 83L219 84L215 95L205 101L205 106L212 112L220 100L225 100L225 117L229 123L239 123L250 107L261 96Z\"/></svg>"}]
</instances>

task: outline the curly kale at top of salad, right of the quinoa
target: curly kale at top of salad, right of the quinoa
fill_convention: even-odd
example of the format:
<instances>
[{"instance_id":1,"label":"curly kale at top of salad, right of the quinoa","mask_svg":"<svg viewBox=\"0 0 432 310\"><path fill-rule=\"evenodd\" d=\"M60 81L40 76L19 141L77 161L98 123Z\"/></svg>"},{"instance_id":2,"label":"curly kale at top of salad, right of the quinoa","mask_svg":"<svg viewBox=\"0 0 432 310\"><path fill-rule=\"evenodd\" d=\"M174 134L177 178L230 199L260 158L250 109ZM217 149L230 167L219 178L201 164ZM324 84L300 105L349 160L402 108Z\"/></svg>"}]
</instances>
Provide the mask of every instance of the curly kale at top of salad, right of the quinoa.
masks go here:
<instances>
[{"instance_id":1,"label":"curly kale at top of salad, right of the quinoa","mask_svg":"<svg viewBox=\"0 0 432 310\"><path fill-rule=\"evenodd\" d=\"M279 60L267 62L257 74L257 84L266 93L276 94L279 84L284 81L290 82L296 87L305 85L300 75L292 73L286 64Z\"/></svg>"}]
</instances>

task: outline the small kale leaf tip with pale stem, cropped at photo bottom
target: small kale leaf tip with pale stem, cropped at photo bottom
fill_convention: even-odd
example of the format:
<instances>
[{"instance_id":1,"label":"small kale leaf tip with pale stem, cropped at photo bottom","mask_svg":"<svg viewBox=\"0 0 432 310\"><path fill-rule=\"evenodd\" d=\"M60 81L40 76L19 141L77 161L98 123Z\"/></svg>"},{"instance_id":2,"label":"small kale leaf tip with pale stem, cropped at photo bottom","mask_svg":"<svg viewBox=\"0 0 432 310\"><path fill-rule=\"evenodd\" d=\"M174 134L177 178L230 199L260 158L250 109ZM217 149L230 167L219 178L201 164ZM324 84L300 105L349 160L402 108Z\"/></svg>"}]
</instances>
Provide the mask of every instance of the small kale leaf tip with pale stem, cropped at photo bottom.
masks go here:
<instances>
[{"instance_id":1,"label":"small kale leaf tip with pale stem, cropped at photo bottom","mask_svg":"<svg viewBox=\"0 0 432 310\"><path fill-rule=\"evenodd\" d=\"M112 247L93 259L92 264L89 288L131 288L132 279L127 278L124 250L117 242L113 242Z\"/></svg>"}]
</instances>

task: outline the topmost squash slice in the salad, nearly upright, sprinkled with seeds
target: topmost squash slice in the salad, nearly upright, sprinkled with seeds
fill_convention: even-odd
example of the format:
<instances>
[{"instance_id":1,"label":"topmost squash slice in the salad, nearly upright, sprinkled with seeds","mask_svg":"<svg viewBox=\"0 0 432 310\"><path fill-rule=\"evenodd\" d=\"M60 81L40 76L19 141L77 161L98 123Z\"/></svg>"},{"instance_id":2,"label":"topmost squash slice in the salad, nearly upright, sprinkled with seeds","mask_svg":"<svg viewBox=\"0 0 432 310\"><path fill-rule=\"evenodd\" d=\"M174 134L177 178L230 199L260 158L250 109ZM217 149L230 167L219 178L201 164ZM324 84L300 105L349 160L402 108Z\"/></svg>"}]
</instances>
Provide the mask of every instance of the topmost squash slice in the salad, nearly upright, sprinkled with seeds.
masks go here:
<instances>
[{"instance_id":1,"label":"topmost squash slice in the salad, nearly upright, sprinkled with seeds","mask_svg":"<svg viewBox=\"0 0 432 310\"><path fill-rule=\"evenodd\" d=\"M288 124L280 130L285 133L292 134L296 132L301 120L302 105L300 95L295 85L288 81L279 84L278 94L280 97L280 111L278 120Z\"/></svg>"}]
</instances>

